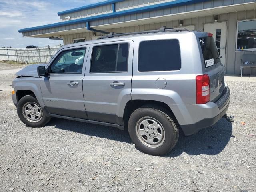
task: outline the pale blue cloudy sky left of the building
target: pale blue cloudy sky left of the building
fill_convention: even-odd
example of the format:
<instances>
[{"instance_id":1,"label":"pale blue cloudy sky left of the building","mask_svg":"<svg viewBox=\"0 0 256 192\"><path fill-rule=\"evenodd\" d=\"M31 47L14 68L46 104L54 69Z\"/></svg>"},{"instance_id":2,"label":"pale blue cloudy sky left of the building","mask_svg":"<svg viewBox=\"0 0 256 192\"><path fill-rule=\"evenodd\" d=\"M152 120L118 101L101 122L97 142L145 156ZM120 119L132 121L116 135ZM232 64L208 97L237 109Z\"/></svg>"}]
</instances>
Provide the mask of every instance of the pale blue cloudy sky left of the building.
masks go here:
<instances>
[{"instance_id":1,"label":"pale blue cloudy sky left of the building","mask_svg":"<svg viewBox=\"0 0 256 192\"><path fill-rule=\"evenodd\" d=\"M0 0L0 47L63 44L62 40L22 37L19 29L61 22L57 12L104 0Z\"/></svg>"}]
</instances>

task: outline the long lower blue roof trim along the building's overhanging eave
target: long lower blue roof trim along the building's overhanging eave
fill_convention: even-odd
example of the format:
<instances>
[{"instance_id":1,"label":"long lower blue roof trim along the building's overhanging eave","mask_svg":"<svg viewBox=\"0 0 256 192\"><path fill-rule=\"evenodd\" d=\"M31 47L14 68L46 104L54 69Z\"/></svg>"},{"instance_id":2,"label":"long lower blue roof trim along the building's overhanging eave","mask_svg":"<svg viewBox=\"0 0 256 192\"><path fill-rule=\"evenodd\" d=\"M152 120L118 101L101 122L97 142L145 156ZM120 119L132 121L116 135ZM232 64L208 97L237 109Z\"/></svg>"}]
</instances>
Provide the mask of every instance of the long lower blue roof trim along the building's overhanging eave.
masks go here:
<instances>
[{"instance_id":1,"label":"long lower blue roof trim along the building's overhanging eave","mask_svg":"<svg viewBox=\"0 0 256 192\"><path fill-rule=\"evenodd\" d=\"M80 19L75 19L75 20L70 20L70 21L64 21L64 22L58 22L58 23L53 23L53 24L48 24L48 25L20 29L19 32L21 33L21 32L28 32L28 31L34 31L34 30L41 30L41 29L47 29L47 28L52 28L52 27L59 27L59 26L65 26L65 25L70 25L70 24L89 22L92 20L113 18L113 17L124 16L124 15L128 15L128 14L136 14L136 13L148 12L148 11L152 11L152 10L171 8L171 7L175 7L175 6L182 6L182 5L188 5L188 4L206 2L206 1L210 1L210 0L175 0L175 1L171 1L171 2L160 3L160 4L156 4L156 5L150 5L150 6L134 8L134 9L128 9L128 10L119 11L119 12L113 12L113 13L108 13L108 14L92 16L92 17L86 17L86 18L80 18Z\"/></svg>"}]
</instances>

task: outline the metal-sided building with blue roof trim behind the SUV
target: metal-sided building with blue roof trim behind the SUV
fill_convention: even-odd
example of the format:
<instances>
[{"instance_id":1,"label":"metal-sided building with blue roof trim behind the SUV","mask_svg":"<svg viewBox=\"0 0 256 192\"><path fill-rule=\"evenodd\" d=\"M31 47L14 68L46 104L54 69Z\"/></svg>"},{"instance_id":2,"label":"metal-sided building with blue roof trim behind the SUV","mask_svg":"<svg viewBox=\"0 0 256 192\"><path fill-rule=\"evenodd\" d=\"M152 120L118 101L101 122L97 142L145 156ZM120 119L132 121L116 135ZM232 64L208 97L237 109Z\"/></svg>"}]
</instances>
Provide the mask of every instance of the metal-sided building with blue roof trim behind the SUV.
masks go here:
<instances>
[{"instance_id":1,"label":"metal-sided building with blue roof trim behind the SUV","mask_svg":"<svg viewBox=\"0 0 256 192\"><path fill-rule=\"evenodd\" d=\"M256 0L108 0L58 12L61 22L20 29L24 37L93 40L105 32L184 27L211 32L227 74L240 74L242 54L256 54ZM255 74L256 69L244 69Z\"/></svg>"}]
</instances>

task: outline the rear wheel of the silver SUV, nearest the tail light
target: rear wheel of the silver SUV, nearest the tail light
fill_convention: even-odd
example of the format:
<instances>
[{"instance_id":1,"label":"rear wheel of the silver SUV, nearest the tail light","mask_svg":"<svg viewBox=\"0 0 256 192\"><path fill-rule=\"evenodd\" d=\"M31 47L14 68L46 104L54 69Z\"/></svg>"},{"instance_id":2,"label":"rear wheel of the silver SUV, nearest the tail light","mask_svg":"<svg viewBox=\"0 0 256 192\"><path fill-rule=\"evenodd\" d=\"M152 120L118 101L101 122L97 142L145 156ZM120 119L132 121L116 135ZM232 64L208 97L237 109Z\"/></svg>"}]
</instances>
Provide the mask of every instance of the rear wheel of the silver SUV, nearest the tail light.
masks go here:
<instances>
[{"instance_id":1,"label":"rear wheel of the silver SUV, nearest the tail light","mask_svg":"<svg viewBox=\"0 0 256 192\"><path fill-rule=\"evenodd\" d=\"M136 147L152 155L168 153L179 136L172 115L158 106L142 106L135 110L130 116L128 131Z\"/></svg>"}]
</instances>

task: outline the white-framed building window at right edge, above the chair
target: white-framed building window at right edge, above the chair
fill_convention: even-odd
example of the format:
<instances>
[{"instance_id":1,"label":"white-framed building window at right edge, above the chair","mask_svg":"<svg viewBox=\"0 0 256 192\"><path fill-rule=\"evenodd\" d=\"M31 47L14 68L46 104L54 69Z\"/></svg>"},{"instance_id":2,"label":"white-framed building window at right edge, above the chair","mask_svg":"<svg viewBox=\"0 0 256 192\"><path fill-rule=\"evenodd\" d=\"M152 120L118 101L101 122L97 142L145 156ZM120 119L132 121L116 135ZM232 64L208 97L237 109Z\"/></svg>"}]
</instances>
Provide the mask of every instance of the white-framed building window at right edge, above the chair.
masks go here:
<instances>
[{"instance_id":1,"label":"white-framed building window at right edge, above the chair","mask_svg":"<svg viewBox=\"0 0 256 192\"><path fill-rule=\"evenodd\" d=\"M256 20L237 22L236 50L256 49Z\"/></svg>"}]
</instances>

